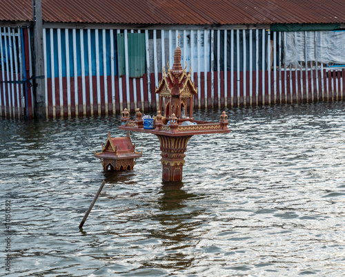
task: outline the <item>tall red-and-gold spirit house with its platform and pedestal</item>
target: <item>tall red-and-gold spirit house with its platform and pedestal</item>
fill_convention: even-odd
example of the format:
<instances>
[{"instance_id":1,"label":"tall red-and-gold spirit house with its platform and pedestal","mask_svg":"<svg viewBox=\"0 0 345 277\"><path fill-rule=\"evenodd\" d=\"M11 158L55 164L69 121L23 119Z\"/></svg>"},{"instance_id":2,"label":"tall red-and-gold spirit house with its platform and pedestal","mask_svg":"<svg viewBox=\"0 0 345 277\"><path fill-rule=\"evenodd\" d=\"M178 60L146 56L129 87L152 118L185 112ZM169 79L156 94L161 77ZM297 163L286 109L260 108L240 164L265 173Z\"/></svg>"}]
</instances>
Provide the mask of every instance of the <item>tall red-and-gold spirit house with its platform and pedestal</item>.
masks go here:
<instances>
[{"instance_id":1,"label":"tall red-and-gold spirit house with its platform and pedestal","mask_svg":"<svg viewBox=\"0 0 345 277\"><path fill-rule=\"evenodd\" d=\"M194 120L193 99L197 88L181 66L181 48L175 49L174 64L163 70L163 79L156 87L159 94L159 110L154 118L143 119L139 108L137 118L130 120L125 108L119 129L157 135L161 149L162 179L168 182L181 181L184 154L187 143L193 135L230 133L228 116L221 113L219 122Z\"/></svg>"}]
</instances>

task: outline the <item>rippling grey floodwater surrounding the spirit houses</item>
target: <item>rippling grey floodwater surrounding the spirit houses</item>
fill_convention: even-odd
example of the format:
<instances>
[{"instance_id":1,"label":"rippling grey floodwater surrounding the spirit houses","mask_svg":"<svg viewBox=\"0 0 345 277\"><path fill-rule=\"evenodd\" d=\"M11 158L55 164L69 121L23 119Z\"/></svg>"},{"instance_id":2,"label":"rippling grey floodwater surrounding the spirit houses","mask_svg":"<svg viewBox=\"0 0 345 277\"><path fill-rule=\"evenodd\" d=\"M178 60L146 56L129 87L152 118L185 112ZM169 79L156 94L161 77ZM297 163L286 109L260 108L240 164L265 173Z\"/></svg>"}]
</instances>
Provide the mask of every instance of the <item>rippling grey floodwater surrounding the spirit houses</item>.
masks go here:
<instances>
[{"instance_id":1,"label":"rippling grey floodwater surrounding the spirit houses","mask_svg":"<svg viewBox=\"0 0 345 277\"><path fill-rule=\"evenodd\" d=\"M1 119L0 276L344 276L345 103L226 113L232 133L192 137L175 186L150 134L131 133L134 171L103 172L118 116Z\"/></svg>"}]
</instances>

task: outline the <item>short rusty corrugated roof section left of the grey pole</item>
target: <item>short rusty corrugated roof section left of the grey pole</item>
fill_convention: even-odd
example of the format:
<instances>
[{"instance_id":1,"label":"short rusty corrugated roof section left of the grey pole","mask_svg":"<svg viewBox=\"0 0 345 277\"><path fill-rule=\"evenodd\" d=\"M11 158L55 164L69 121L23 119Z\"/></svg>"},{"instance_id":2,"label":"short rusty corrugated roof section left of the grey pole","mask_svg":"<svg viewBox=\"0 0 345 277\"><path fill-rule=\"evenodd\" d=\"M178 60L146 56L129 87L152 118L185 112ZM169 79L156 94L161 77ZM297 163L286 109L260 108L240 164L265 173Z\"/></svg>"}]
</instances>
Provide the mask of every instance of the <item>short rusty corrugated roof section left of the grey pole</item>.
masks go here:
<instances>
[{"instance_id":1,"label":"short rusty corrugated roof section left of the grey pole","mask_svg":"<svg viewBox=\"0 0 345 277\"><path fill-rule=\"evenodd\" d=\"M32 21L31 0L0 0L0 20Z\"/></svg>"}]
</instances>

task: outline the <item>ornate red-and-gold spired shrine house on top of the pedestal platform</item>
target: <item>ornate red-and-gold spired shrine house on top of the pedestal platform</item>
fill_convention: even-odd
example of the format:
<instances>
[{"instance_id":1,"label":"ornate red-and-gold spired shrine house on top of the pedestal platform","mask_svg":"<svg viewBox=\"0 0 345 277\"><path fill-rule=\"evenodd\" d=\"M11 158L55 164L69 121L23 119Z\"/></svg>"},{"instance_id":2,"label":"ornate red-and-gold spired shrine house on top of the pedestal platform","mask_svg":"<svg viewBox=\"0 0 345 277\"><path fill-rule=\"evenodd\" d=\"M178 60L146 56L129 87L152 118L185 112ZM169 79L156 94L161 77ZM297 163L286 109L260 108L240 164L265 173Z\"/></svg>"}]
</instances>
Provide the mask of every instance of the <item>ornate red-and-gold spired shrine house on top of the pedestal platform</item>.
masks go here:
<instances>
[{"instance_id":1,"label":"ornate red-and-gold spired shrine house on top of the pedestal platform","mask_svg":"<svg viewBox=\"0 0 345 277\"><path fill-rule=\"evenodd\" d=\"M193 119L193 99L194 95L197 95L197 88L190 79L190 73L186 73L186 67L182 70L181 48L177 46L174 64L171 70L168 64L168 74L163 68L163 79L155 91L159 94L159 111L162 111L167 119L170 119L172 114L177 118Z\"/></svg>"}]
</instances>

